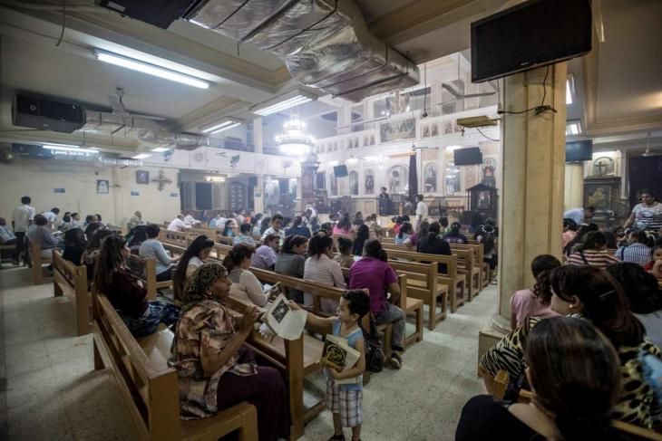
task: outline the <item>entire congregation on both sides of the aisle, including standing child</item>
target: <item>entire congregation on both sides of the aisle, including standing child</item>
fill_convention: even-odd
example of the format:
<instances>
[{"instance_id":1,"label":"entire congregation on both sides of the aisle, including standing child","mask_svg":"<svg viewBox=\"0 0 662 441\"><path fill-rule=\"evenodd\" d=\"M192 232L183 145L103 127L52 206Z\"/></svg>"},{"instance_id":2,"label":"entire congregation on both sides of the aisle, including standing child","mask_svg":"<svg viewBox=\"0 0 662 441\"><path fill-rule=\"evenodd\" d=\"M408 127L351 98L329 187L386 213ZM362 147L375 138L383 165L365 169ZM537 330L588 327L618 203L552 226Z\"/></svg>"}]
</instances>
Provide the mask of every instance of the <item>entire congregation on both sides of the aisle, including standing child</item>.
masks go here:
<instances>
[{"instance_id":1,"label":"entire congregation on both sides of the aisle, including standing child","mask_svg":"<svg viewBox=\"0 0 662 441\"><path fill-rule=\"evenodd\" d=\"M57 215L55 209L51 212ZM417 219L414 228L408 216L380 226L375 215L364 221L360 213L352 221L345 214L320 225L310 209L294 219L243 211L219 214L207 225L192 214L181 214L168 230L204 227L209 233L196 235L179 257L172 257L168 244L159 239L161 228L145 225L139 215L131 217L126 238L99 225L99 217L92 217L85 229L67 228L64 258L87 265L95 288L108 296L137 338L160 323L171 327L175 340L170 363L179 372L182 417L209 417L248 401L258 409L260 440L287 437L290 428L287 388L279 371L260 364L244 345L259 320L259 307L275 293L260 282L262 271L344 290L337 300L321 299L319 312L330 316L325 318L312 312L315 292L285 293L292 308L307 311L309 325L324 330L322 334L345 338L361 353L354 369L325 369L326 404L334 418L330 439L345 439L343 428L352 427L356 441L363 386L360 381L336 381L360 378L365 371L365 334L359 325L365 315L376 325L392 324L388 365L400 369L404 363L406 313L396 306L400 285L383 237L394 237L394 244L409 251L443 255L451 255L452 245L468 244L472 237L474 244L482 244L485 262L492 269L497 264L498 229L491 219L476 225L467 237L460 223L449 225L445 217ZM55 221L37 215L34 223L33 240L39 240L44 253L51 252L58 246L50 228ZM515 387L509 388L505 400L469 400L456 439L487 439L501 433L522 440L618 439L612 420L647 429L662 425L659 386L656 390L655 376L649 375L657 369L659 382L660 244L641 230L621 236L614 232L610 237L618 250L611 251L609 235L595 225L566 219L564 230L565 262L549 254L533 259L535 283L522 286L511 298L512 331L480 360L489 393L501 370ZM219 248L212 258L217 235L231 237L233 245ZM130 254L155 260L157 281L172 281L171 301L148 300L141 277L127 264ZM438 271L445 273L445 266L438 264ZM233 314L228 298L246 303L247 311ZM518 393L526 390L531 390L531 402L518 402Z\"/></svg>"}]
</instances>

